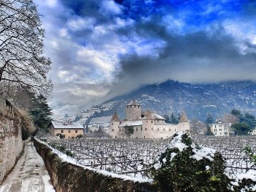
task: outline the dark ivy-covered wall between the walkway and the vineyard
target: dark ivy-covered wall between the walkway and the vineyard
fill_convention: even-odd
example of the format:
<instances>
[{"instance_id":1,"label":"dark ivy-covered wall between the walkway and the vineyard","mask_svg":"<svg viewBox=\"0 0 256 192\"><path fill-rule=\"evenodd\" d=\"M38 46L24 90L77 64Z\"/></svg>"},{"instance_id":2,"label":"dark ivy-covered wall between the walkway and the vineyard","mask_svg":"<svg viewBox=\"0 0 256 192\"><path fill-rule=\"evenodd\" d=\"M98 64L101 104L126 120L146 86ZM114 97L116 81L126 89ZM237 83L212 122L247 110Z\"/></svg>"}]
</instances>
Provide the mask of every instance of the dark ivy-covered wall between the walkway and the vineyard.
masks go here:
<instances>
[{"instance_id":1,"label":"dark ivy-covered wall between the walkway and the vineyard","mask_svg":"<svg viewBox=\"0 0 256 192\"><path fill-rule=\"evenodd\" d=\"M155 191L149 183L124 181L122 178L103 175L96 171L62 161L48 146L36 140L34 145L38 154L42 156L51 182L58 192Z\"/></svg>"}]
</instances>

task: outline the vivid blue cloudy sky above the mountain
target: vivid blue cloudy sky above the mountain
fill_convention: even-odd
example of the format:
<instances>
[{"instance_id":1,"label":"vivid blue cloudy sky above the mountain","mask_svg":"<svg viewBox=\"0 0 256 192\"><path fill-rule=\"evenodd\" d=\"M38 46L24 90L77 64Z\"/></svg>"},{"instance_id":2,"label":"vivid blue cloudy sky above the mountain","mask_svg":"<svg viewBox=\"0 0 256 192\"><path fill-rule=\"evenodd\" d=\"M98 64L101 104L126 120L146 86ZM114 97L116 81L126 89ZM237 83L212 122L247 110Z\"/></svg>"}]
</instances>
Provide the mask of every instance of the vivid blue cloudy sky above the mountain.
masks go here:
<instances>
[{"instance_id":1,"label":"vivid blue cloudy sky above the mountain","mask_svg":"<svg viewBox=\"0 0 256 192\"><path fill-rule=\"evenodd\" d=\"M52 102L89 107L168 79L256 80L256 1L35 3L53 62Z\"/></svg>"}]
</instances>

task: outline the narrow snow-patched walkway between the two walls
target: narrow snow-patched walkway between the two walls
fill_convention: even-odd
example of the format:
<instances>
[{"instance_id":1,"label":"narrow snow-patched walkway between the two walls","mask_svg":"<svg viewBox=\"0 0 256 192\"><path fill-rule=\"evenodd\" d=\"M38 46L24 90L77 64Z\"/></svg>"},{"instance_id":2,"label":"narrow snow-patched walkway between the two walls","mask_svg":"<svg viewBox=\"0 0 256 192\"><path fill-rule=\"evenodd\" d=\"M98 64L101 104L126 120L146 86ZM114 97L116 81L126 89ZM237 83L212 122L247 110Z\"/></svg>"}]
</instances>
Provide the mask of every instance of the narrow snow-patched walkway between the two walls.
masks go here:
<instances>
[{"instance_id":1,"label":"narrow snow-patched walkway between the two walls","mask_svg":"<svg viewBox=\"0 0 256 192\"><path fill-rule=\"evenodd\" d=\"M54 192L43 159L33 142L25 144L23 156L0 185L0 192Z\"/></svg>"}]
</instances>

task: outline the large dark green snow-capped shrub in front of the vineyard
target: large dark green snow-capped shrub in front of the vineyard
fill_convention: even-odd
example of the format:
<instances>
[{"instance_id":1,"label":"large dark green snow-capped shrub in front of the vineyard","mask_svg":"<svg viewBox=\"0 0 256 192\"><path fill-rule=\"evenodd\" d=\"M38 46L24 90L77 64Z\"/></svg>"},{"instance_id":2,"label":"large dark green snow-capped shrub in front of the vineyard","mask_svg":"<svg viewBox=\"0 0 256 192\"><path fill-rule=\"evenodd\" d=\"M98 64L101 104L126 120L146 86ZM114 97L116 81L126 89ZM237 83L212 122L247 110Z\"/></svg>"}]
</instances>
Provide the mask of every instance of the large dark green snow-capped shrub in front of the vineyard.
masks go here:
<instances>
[{"instance_id":1,"label":"large dark green snow-capped shrub in front of the vineyard","mask_svg":"<svg viewBox=\"0 0 256 192\"><path fill-rule=\"evenodd\" d=\"M193 143L188 133L174 134L151 167L159 191L229 191L225 160L214 149Z\"/></svg>"}]
</instances>

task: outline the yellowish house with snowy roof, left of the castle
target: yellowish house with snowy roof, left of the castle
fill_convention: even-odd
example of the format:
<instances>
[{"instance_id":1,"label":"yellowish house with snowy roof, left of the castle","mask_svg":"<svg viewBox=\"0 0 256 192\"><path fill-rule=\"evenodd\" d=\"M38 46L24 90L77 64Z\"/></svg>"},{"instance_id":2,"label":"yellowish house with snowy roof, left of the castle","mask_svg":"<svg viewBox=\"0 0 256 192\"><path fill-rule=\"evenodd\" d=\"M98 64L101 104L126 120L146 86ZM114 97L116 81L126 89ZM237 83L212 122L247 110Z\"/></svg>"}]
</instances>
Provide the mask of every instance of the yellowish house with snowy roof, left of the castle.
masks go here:
<instances>
[{"instance_id":1,"label":"yellowish house with snowy roof, left of the castle","mask_svg":"<svg viewBox=\"0 0 256 192\"><path fill-rule=\"evenodd\" d=\"M50 128L50 135L64 134L66 139L75 138L78 134L83 134L83 127L78 122L59 122L51 121L48 128Z\"/></svg>"}]
</instances>

